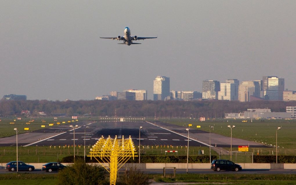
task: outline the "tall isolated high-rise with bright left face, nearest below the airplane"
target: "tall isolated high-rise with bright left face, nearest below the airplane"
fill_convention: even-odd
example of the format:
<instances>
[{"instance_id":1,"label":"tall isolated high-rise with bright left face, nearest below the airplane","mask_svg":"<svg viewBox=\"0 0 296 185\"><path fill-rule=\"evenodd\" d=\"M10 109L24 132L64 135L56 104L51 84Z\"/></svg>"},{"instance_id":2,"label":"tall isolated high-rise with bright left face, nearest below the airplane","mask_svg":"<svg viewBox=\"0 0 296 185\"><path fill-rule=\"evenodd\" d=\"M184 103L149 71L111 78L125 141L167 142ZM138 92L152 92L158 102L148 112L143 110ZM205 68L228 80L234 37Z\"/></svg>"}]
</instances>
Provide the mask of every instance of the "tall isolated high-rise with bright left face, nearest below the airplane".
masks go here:
<instances>
[{"instance_id":1,"label":"tall isolated high-rise with bright left face, nearest below the airplane","mask_svg":"<svg viewBox=\"0 0 296 185\"><path fill-rule=\"evenodd\" d=\"M165 100L170 97L170 78L157 76L153 81L153 100Z\"/></svg>"}]
</instances>

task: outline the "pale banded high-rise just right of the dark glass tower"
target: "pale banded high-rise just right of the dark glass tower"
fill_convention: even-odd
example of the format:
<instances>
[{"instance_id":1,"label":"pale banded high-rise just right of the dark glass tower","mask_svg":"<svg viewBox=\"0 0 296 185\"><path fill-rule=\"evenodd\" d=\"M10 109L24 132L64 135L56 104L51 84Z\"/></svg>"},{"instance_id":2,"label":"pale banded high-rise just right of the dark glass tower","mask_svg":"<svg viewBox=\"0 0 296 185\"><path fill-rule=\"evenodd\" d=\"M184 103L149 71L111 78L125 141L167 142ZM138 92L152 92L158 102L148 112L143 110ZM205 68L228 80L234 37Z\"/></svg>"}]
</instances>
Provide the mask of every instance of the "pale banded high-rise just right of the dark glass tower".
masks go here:
<instances>
[{"instance_id":1,"label":"pale banded high-rise just right of the dark glass tower","mask_svg":"<svg viewBox=\"0 0 296 185\"><path fill-rule=\"evenodd\" d=\"M218 99L238 100L239 81L237 79L226 80L226 83L220 83Z\"/></svg>"}]
</instances>

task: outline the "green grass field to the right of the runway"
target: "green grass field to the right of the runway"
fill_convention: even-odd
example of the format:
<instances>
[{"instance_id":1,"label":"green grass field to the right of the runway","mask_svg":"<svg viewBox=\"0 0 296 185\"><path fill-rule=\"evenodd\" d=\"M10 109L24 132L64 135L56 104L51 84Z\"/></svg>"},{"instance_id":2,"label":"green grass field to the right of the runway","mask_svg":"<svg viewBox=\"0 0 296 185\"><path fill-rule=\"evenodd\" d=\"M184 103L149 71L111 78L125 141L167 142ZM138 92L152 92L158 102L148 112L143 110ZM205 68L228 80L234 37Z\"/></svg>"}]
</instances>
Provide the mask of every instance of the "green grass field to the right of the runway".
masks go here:
<instances>
[{"instance_id":1,"label":"green grass field to the right of the runway","mask_svg":"<svg viewBox=\"0 0 296 185\"><path fill-rule=\"evenodd\" d=\"M192 129L200 129L209 132L210 126L214 126L212 133L221 134L230 137L230 128L228 125L235 126L232 129L232 137L245 139L248 141L254 141L258 143L265 144L266 146L276 145L276 130L278 130L278 146L280 149L296 149L296 121L295 120L265 120L260 122L260 120L253 120L253 122L242 122L242 121L205 121L200 122L196 120L166 120L166 123L172 123L178 126L188 127L188 124L192 124ZM201 126L196 128L196 126ZM269 151L269 149L268 149ZM296 150L295 150L296 152ZM269 153L269 152L268 152Z\"/></svg>"}]
</instances>

